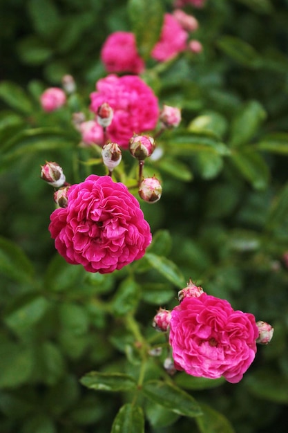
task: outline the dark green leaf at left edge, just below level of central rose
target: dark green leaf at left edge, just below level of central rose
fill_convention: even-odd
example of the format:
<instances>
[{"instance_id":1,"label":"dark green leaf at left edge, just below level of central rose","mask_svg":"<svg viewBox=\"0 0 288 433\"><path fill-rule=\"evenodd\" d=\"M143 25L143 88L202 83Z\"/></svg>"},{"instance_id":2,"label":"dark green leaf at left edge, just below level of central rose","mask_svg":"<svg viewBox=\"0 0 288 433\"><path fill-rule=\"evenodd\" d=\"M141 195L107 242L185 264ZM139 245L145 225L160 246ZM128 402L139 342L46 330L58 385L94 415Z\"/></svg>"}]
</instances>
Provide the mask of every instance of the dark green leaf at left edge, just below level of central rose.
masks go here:
<instances>
[{"instance_id":1,"label":"dark green leaf at left edge, just below level of central rose","mask_svg":"<svg viewBox=\"0 0 288 433\"><path fill-rule=\"evenodd\" d=\"M34 269L16 243L0 237L0 273L17 282L32 282Z\"/></svg>"}]
</instances>

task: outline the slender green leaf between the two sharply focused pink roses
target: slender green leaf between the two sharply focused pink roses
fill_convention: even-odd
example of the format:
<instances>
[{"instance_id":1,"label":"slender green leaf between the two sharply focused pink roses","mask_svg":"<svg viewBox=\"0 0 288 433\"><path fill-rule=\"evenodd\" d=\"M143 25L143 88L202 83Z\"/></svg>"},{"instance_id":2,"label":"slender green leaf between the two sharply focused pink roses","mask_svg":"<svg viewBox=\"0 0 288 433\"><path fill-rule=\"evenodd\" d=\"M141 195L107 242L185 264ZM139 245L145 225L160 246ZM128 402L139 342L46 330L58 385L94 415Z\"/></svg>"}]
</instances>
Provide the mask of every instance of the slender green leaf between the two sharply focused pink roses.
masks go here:
<instances>
[{"instance_id":1,"label":"slender green leaf between the two sharply focused pink roses","mask_svg":"<svg viewBox=\"0 0 288 433\"><path fill-rule=\"evenodd\" d=\"M152 268L157 270L157 272L162 274L171 283L175 284L175 286L179 288L185 286L184 277L173 261L166 259L166 257L157 256L152 252L146 252L145 259Z\"/></svg>"}]
</instances>

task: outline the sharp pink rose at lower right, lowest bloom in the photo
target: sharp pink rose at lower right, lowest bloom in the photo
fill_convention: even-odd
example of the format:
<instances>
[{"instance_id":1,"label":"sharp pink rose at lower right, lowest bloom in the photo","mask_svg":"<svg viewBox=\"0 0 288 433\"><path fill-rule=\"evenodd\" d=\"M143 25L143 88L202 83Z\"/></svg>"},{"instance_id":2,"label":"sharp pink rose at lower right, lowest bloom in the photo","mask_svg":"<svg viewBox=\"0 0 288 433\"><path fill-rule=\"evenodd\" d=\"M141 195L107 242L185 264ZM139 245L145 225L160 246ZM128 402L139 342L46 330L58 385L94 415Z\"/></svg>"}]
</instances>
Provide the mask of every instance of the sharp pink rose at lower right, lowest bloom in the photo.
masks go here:
<instances>
[{"instance_id":1,"label":"sharp pink rose at lower right, lowest bloom in the photo","mask_svg":"<svg viewBox=\"0 0 288 433\"><path fill-rule=\"evenodd\" d=\"M192 376L237 383L253 362L259 330L250 313L203 293L173 308L170 344L175 368Z\"/></svg>"}]
</instances>

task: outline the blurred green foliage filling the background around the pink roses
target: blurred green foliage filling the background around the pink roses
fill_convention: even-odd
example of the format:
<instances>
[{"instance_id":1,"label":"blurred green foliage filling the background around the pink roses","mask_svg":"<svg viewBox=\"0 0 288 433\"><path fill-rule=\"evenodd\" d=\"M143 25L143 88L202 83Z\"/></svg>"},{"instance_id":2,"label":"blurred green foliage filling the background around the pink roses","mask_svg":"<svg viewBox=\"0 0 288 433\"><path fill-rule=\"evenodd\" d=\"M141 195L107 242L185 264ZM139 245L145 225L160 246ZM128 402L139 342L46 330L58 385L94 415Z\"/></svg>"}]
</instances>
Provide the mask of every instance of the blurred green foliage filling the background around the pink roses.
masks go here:
<instances>
[{"instance_id":1,"label":"blurred green foliage filling the background around the pink roses","mask_svg":"<svg viewBox=\"0 0 288 433\"><path fill-rule=\"evenodd\" d=\"M153 231L146 256L88 275L50 239L52 189L39 167L57 160L71 183L102 174L78 147L71 112L88 113L106 37L134 31L148 58L164 10L171 1L0 2L1 433L287 432L287 0L188 7L203 52L147 59L144 80L183 120L145 168L164 189L160 202L141 203ZM67 73L77 95L44 113L39 95ZM275 328L238 385L169 378L163 356L146 357L166 343L151 328L155 311L173 308L190 277Z\"/></svg>"}]
</instances>

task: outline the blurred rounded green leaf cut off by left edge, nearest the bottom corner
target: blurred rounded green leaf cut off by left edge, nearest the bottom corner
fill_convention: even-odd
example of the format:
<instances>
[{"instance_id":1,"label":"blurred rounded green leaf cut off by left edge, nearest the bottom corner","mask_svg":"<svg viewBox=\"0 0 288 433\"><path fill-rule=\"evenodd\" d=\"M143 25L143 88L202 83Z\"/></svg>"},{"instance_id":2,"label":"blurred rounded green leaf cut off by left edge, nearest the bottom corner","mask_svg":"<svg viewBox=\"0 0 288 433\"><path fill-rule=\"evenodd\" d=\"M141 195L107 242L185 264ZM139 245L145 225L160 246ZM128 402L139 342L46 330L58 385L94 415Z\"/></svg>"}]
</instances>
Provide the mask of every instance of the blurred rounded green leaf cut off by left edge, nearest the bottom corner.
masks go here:
<instances>
[{"instance_id":1,"label":"blurred rounded green leaf cut off by left edge, nearest the bottom corner","mask_svg":"<svg viewBox=\"0 0 288 433\"><path fill-rule=\"evenodd\" d=\"M27 383L33 371L32 351L15 342L0 344L0 387L15 388Z\"/></svg>"}]
</instances>

